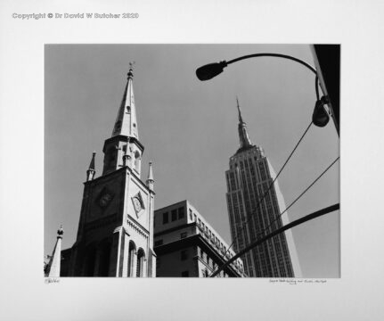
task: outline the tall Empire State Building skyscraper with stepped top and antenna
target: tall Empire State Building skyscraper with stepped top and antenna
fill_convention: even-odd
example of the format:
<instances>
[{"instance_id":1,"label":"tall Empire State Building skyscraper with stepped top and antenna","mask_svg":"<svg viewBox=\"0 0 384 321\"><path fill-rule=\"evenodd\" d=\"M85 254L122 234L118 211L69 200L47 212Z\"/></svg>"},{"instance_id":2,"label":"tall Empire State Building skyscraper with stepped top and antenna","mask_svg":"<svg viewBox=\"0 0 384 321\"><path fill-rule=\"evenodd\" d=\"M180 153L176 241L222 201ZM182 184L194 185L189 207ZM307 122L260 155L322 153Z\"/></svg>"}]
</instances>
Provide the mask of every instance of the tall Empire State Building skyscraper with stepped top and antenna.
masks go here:
<instances>
[{"instance_id":1,"label":"tall Empire State Building skyscraper with stepped top and antenna","mask_svg":"<svg viewBox=\"0 0 384 321\"><path fill-rule=\"evenodd\" d=\"M228 191L226 201L236 252L255 242L260 236L288 223L287 213L280 217L285 204L277 181L267 192L274 181L274 169L264 150L250 142L239 102L237 108L240 148L230 158L230 168L225 172ZM290 230L247 252L242 260L248 276L301 276Z\"/></svg>"}]
</instances>

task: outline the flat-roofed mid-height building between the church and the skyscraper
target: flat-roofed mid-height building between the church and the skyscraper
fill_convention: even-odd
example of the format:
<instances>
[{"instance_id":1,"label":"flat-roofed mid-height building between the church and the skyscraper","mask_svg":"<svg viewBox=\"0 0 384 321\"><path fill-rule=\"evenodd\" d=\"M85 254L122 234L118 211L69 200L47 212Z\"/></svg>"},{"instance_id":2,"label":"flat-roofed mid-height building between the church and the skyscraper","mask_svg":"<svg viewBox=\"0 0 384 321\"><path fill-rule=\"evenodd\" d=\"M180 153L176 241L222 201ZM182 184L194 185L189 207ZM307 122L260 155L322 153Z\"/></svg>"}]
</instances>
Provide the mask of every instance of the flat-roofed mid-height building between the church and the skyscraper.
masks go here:
<instances>
[{"instance_id":1,"label":"flat-roofed mid-height building between the church and the skyscraper","mask_svg":"<svg viewBox=\"0 0 384 321\"><path fill-rule=\"evenodd\" d=\"M154 224L157 276L207 277L235 255L188 201L155 210ZM242 260L235 260L219 276L246 276Z\"/></svg>"}]
</instances>

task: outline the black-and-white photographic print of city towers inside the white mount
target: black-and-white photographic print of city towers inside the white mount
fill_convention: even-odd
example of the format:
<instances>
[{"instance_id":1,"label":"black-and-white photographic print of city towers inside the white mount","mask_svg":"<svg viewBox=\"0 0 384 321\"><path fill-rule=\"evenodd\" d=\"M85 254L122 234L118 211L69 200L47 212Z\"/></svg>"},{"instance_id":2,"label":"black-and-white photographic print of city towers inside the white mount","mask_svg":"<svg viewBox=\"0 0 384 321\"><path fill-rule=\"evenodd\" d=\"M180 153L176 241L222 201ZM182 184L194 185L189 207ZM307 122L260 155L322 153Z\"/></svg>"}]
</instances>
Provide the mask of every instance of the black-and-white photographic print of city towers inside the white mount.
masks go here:
<instances>
[{"instance_id":1,"label":"black-and-white photographic print of city towers inside the white mount","mask_svg":"<svg viewBox=\"0 0 384 321\"><path fill-rule=\"evenodd\" d=\"M46 277L338 278L339 215L339 45L45 45Z\"/></svg>"}]
</instances>

